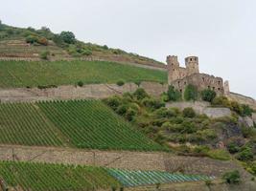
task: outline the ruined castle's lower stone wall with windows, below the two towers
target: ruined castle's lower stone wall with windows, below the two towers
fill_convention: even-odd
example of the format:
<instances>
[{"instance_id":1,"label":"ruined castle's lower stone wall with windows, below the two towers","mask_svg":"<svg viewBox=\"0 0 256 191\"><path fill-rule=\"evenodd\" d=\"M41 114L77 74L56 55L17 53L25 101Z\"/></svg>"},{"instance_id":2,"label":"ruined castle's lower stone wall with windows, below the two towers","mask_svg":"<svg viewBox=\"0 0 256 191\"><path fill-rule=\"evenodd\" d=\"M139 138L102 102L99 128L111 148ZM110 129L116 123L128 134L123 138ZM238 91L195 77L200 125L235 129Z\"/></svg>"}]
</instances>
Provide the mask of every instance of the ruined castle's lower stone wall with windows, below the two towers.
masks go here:
<instances>
[{"instance_id":1,"label":"ruined castle's lower stone wall with windows, below the two towers","mask_svg":"<svg viewBox=\"0 0 256 191\"><path fill-rule=\"evenodd\" d=\"M184 90L188 84L192 84L198 87L198 91L205 89L214 90L218 95L224 94L223 80L221 77L215 77L209 74L191 74L182 79L177 79L171 83L175 86L175 89L184 93Z\"/></svg>"}]
</instances>

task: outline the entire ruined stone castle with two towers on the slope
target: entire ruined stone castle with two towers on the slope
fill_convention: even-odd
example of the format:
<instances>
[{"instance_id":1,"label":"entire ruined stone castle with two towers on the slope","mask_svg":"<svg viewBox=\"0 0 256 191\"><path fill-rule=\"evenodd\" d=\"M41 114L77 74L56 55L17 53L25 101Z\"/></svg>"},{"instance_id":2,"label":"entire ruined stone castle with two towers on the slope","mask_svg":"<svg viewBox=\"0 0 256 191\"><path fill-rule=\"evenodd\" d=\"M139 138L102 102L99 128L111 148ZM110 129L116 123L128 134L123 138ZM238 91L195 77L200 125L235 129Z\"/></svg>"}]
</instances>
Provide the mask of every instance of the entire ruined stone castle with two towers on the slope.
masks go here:
<instances>
[{"instance_id":1,"label":"entire ruined stone castle with two towers on the slope","mask_svg":"<svg viewBox=\"0 0 256 191\"><path fill-rule=\"evenodd\" d=\"M229 94L228 81L223 82L221 77L199 73L197 56L186 57L185 66L185 68L179 66L177 56L167 56L168 84L173 85L180 93L184 92L188 84L192 84L198 88L198 91L211 89L219 96Z\"/></svg>"}]
</instances>

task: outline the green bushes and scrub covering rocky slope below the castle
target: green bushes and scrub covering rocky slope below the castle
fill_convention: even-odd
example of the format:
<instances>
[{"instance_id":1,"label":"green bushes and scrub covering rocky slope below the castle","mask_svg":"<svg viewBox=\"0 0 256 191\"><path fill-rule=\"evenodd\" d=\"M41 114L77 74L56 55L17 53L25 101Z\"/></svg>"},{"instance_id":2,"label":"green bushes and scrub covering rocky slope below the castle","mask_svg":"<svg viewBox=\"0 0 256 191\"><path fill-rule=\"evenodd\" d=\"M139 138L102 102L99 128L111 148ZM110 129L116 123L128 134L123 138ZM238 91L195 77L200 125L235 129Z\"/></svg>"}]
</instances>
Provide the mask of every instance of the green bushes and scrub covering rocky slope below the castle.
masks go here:
<instances>
[{"instance_id":1,"label":"green bushes and scrub covering rocky slope below the castle","mask_svg":"<svg viewBox=\"0 0 256 191\"><path fill-rule=\"evenodd\" d=\"M171 90L174 91L173 88ZM176 96L178 95L169 91L162 98L181 98ZM212 94L204 94L203 97L216 104L221 99L219 96L214 98ZM175 149L178 155L235 158L249 161L249 168L251 171L255 170L253 161L256 156L256 129L244 127L239 120L239 115L251 115L247 106L230 102L228 105L233 111L232 117L210 118L196 114L192 108L185 108L183 111L166 108L162 100L152 98L143 89L138 89L134 94L106 98L105 103L149 138Z\"/></svg>"}]
</instances>

